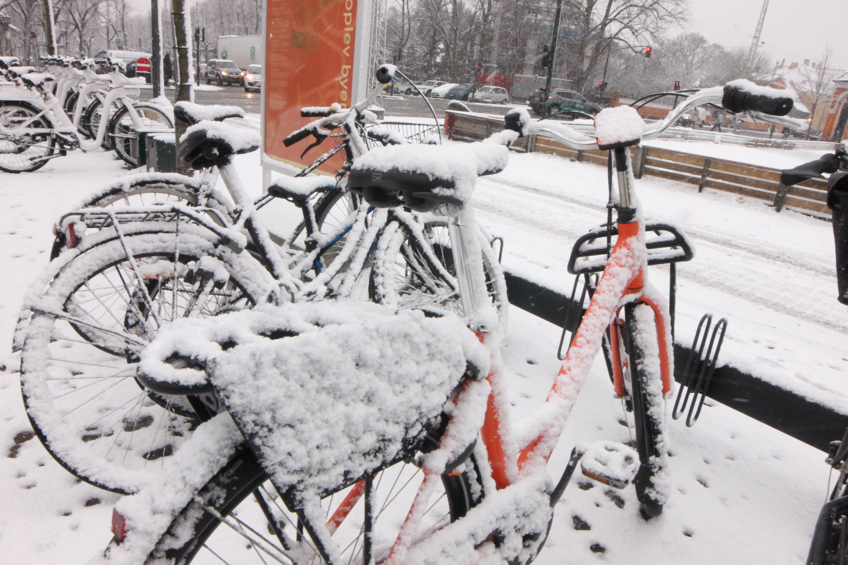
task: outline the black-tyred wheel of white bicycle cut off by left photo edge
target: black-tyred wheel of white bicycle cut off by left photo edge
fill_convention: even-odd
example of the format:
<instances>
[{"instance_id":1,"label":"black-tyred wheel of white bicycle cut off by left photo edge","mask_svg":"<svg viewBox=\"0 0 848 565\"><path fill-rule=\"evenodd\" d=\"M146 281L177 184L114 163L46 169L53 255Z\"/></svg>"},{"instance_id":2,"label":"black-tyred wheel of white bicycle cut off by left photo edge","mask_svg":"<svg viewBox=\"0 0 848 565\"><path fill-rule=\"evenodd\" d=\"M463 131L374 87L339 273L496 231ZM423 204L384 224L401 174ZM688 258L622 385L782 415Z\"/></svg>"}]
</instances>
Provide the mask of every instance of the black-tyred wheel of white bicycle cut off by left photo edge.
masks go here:
<instances>
[{"instance_id":1,"label":"black-tyred wheel of white bicycle cut off by left photo edge","mask_svg":"<svg viewBox=\"0 0 848 565\"><path fill-rule=\"evenodd\" d=\"M41 111L25 101L0 101L0 170L6 173L31 173L41 169L53 155L56 141L49 133L32 134L26 130L49 130L49 119L42 116L29 121ZM29 122L29 123L26 123ZM25 125L24 125L25 124Z\"/></svg>"}]
</instances>

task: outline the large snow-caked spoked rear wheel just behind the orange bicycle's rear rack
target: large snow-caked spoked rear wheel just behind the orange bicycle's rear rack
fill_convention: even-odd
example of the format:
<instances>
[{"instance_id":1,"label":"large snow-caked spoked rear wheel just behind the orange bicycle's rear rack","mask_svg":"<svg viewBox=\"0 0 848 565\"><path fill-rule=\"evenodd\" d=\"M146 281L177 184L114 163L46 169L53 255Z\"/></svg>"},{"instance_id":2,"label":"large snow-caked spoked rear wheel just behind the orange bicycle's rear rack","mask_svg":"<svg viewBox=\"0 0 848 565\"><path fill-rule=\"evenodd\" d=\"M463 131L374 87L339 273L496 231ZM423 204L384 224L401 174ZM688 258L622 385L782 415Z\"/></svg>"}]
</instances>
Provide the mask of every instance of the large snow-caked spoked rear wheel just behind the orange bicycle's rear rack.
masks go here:
<instances>
[{"instance_id":1,"label":"large snow-caked spoked rear wheel just behind the orange bicycle's rear rack","mask_svg":"<svg viewBox=\"0 0 848 565\"><path fill-rule=\"evenodd\" d=\"M177 240L170 227L126 235L137 269L116 239L82 252L49 283L39 301L47 306L24 330L21 391L36 435L70 473L114 492L137 490L178 453L198 420L186 397L142 390L137 352L109 330L147 343L159 324L250 307L273 289L270 275L246 254L216 249L190 225ZM215 258L228 279L215 274L215 285L192 285L203 278L201 258L207 267Z\"/></svg>"}]
</instances>

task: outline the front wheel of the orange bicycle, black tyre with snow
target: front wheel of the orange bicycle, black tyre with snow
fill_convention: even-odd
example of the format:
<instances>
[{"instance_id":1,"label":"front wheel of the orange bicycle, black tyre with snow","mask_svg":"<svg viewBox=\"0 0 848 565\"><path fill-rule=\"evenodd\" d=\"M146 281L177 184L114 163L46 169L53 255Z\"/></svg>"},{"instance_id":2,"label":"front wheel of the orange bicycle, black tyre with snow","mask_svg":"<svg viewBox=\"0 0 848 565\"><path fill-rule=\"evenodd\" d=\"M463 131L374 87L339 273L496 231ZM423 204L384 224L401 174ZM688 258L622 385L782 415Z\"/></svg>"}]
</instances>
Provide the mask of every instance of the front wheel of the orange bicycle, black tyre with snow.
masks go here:
<instances>
[{"instance_id":1,"label":"front wheel of the orange bicycle, black tyre with snow","mask_svg":"<svg viewBox=\"0 0 848 565\"><path fill-rule=\"evenodd\" d=\"M663 440L665 401L657 363L660 350L654 312L648 305L626 304L624 319L622 338L628 355L629 392L633 401L636 451L639 452L639 471L633 485L644 516L654 518L661 514L667 497L665 485L661 484L664 482L666 446Z\"/></svg>"}]
</instances>

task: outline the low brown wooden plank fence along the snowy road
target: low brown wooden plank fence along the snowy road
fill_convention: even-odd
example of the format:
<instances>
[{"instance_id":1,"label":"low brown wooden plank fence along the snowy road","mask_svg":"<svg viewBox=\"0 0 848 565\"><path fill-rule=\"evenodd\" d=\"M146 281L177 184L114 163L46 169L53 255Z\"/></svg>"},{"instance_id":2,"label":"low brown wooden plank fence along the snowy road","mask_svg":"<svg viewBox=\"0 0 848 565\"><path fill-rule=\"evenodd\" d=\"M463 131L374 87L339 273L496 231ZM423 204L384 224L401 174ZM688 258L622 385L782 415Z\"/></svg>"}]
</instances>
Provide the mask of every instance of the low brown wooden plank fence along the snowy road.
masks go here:
<instances>
[{"instance_id":1,"label":"low brown wooden plank fence along the snowy road","mask_svg":"<svg viewBox=\"0 0 848 565\"><path fill-rule=\"evenodd\" d=\"M449 139L479 141L504 129L504 118L488 114L468 114L448 111L445 116L445 132ZM591 130L591 126L578 125L579 130ZM752 140L753 141L753 140ZM756 141L778 141L760 140ZM831 144L832 145L832 144ZM557 141L527 136L514 145L524 152L541 152L576 158L577 161L606 164L607 152L590 150L577 151ZM773 202L780 183L780 170L759 167L750 163L736 163L725 159L706 158L692 153L668 151L657 147L633 147L633 172L636 178L644 174L679 180L698 186L698 191L712 188L734 192ZM818 217L830 217L825 204L827 180L811 179L789 187L786 206L812 213Z\"/></svg>"}]
</instances>

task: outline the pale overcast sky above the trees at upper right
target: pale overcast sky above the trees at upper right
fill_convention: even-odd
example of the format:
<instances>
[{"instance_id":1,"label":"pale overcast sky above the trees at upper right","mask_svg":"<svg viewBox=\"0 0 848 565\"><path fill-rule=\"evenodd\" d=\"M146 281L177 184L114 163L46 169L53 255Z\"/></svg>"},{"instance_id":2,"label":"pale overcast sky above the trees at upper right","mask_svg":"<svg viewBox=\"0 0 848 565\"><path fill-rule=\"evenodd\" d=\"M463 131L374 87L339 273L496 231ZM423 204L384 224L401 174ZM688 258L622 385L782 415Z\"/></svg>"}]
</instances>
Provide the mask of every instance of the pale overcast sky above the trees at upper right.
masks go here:
<instances>
[{"instance_id":1,"label":"pale overcast sky above the trees at upper right","mask_svg":"<svg viewBox=\"0 0 848 565\"><path fill-rule=\"evenodd\" d=\"M689 0L687 31L724 47L750 47L762 0ZM676 35L679 30L669 30ZM848 69L848 0L770 0L760 49L774 61L802 63L834 48L834 66Z\"/></svg>"}]
</instances>

